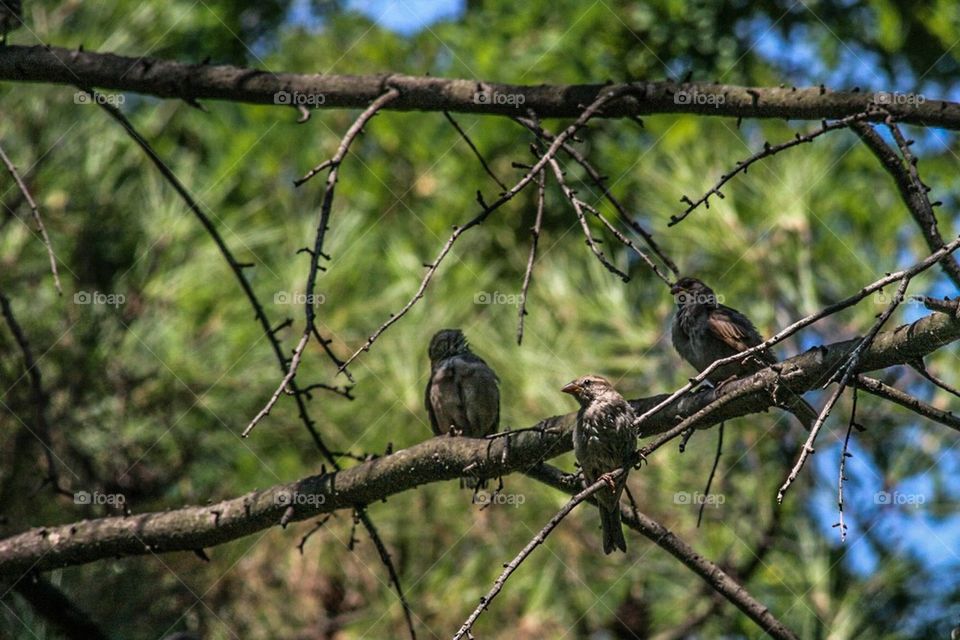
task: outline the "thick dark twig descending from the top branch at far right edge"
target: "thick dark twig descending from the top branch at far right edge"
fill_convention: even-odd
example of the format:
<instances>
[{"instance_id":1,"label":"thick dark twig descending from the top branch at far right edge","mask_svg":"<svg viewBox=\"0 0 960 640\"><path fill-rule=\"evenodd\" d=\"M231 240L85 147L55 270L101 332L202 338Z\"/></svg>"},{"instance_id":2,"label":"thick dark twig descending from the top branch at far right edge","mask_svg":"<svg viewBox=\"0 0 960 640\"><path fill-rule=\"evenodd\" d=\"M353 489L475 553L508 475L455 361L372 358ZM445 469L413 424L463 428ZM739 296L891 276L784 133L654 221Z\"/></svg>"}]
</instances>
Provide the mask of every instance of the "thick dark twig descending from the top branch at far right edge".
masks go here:
<instances>
[{"instance_id":1,"label":"thick dark twig descending from the top branch at far right edge","mask_svg":"<svg viewBox=\"0 0 960 640\"><path fill-rule=\"evenodd\" d=\"M903 160L897 156L896 152L880 137L872 125L866 122L856 122L852 125L854 132L860 137L860 140L873 152L880 164L886 169L887 173L893 178L900 192L900 198L907 206L907 211L916 221L920 230L923 232L924 240L931 251L936 251L944 244L940 230L937 228L937 217L933 211L933 204L927 196L929 188L923 184L920 175L917 172L917 159L910 152L911 141L906 140L900 132L900 128L888 118L887 126L893 134ZM954 284L960 286L960 264L953 258L944 260L941 263L943 270L953 280Z\"/></svg>"}]
</instances>

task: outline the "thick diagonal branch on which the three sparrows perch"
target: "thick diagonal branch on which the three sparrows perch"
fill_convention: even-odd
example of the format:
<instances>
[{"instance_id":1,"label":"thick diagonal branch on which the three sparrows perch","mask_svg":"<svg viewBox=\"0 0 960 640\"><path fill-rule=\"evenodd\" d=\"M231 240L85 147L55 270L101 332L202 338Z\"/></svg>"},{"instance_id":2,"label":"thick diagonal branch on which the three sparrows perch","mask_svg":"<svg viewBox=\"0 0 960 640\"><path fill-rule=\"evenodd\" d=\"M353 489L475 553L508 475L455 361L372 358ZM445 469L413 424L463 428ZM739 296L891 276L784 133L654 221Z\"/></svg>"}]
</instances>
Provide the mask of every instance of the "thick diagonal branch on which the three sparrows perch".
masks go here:
<instances>
[{"instance_id":1,"label":"thick diagonal branch on which the three sparrows perch","mask_svg":"<svg viewBox=\"0 0 960 640\"><path fill-rule=\"evenodd\" d=\"M960 339L960 317L933 313L879 333L865 350L857 372L914 362ZM734 400L703 415L691 426L719 424L773 406L770 390L786 385L797 393L819 387L860 344L855 338L814 348L746 378L724 385L720 396ZM661 394L633 401L643 413L668 398ZM717 400L715 389L677 398L644 423L643 436L663 433ZM451 480L471 466L474 475L495 477L529 469L571 449L576 414L547 418L536 428L491 440L431 438L355 467L276 485L203 507L161 513L100 518L37 527L0 540L0 575L46 571L104 558L189 551L236 540L280 523L371 504L421 484ZM288 513L289 511L289 513Z\"/></svg>"}]
</instances>

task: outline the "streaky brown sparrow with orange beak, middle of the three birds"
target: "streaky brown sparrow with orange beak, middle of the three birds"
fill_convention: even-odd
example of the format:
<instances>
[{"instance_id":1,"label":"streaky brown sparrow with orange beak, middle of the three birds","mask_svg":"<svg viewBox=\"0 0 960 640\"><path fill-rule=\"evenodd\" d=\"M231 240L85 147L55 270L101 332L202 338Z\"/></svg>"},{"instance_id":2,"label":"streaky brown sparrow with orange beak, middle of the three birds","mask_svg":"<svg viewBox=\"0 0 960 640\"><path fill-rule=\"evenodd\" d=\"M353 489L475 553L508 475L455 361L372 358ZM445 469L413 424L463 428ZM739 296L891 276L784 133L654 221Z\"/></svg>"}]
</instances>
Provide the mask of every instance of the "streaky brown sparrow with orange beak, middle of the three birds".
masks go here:
<instances>
[{"instance_id":1,"label":"streaky brown sparrow with orange beak, middle of the three birds","mask_svg":"<svg viewBox=\"0 0 960 640\"><path fill-rule=\"evenodd\" d=\"M605 378L583 376L561 389L580 403L573 427L573 452L587 486L605 479L607 487L594 494L600 508L603 552L626 552L620 524L620 495L627 484L627 470L636 448L637 416L629 402ZM616 479L610 473L623 469Z\"/></svg>"}]
</instances>

